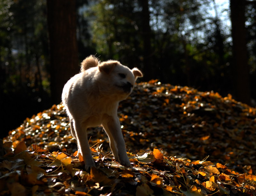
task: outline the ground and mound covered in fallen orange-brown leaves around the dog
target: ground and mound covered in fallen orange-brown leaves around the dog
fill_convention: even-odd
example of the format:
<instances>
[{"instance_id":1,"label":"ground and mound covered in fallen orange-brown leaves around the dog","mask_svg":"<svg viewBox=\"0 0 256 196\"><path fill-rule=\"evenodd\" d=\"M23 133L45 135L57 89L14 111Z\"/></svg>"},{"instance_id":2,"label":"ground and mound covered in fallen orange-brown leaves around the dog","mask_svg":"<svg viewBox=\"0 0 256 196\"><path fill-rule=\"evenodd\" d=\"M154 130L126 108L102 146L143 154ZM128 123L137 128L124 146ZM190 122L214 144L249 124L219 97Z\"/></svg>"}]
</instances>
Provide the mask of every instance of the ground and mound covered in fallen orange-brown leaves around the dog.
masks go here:
<instances>
[{"instance_id":1,"label":"ground and mound covered in fallen orange-brown leaves around the dog","mask_svg":"<svg viewBox=\"0 0 256 196\"><path fill-rule=\"evenodd\" d=\"M256 195L255 108L150 81L118 115L131 168L113 159L95 128L88 135L97 168L84 171L60 104L0 142L0 195Z\"/></svg>"}]
</instances>

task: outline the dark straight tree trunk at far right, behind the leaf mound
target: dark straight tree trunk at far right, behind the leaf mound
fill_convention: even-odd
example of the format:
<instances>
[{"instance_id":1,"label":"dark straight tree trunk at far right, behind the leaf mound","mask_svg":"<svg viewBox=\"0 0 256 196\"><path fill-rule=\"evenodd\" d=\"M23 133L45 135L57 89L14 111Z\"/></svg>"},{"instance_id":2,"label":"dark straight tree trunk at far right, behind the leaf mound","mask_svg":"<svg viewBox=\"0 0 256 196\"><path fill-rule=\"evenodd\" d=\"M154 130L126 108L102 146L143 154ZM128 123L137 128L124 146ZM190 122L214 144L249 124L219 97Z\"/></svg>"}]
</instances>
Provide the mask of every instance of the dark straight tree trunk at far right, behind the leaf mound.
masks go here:
<instances>
[{"instance_id":1,"label":"dark straight tree trunk at far right, behind the leaf mound","mask_svg":"<svg viewBox=\"0 0 256 196\"><path fill-rule=\"evenodd\" d=\"M250 80L244 16L245 1L230 0L230 11L233 38L235 96L238 101L250 104Z\"/></svg>"}]
</instances>

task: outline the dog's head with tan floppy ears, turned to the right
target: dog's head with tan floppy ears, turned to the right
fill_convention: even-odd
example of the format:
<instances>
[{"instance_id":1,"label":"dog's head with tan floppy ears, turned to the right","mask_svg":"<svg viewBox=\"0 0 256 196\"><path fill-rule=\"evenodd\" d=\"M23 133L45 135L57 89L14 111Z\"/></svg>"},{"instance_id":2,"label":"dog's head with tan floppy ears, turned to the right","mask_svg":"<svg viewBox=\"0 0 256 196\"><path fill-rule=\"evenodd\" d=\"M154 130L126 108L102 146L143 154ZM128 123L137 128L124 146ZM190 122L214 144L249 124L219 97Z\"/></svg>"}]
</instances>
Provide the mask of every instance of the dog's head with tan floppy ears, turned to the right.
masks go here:
<instances>
[{"instance_id":1,"label":"dog's head with tan floppy ears, turned to the right","mask_svg":"<svg viewBox=\"0 0 256 196\"><path fill-rule=\"evenodd\" d=\"M100 63L98 68L102 78L105 78L104 82L108 88L111 89L112 93L115 92L120 100L127 98L132 92L136 79L142 77L139 69L133 68L131 70L119 61L108 60Z\"/></svg>"}]
</instances>

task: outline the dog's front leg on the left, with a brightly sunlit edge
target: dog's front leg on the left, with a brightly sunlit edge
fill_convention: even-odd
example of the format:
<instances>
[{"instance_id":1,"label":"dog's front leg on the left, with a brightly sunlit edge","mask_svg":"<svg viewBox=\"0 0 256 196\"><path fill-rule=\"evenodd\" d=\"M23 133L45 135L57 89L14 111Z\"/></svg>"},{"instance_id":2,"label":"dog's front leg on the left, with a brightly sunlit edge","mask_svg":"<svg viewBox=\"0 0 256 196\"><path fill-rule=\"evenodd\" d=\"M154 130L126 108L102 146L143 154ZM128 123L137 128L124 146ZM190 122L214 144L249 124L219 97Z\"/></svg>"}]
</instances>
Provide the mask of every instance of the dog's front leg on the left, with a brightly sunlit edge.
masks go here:
<instances>
[{"instance_id":1,"label":"dog's front leg on the left, with a brightly sunlit edge","mask_svg":"<svg viewBox=\"0 0 256 196\"><path fill-rule=\"evenodd\" d=\"M82 153L84 159L85 170L89 170L91 167L95 167L92 159L91 149L88 144L87 127L83 123L79 123L73 120L73 125L76 132L76 139L79 152Z\"/></svg>"}]
</instances>

